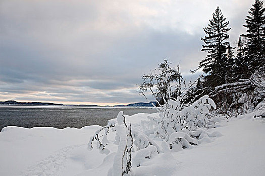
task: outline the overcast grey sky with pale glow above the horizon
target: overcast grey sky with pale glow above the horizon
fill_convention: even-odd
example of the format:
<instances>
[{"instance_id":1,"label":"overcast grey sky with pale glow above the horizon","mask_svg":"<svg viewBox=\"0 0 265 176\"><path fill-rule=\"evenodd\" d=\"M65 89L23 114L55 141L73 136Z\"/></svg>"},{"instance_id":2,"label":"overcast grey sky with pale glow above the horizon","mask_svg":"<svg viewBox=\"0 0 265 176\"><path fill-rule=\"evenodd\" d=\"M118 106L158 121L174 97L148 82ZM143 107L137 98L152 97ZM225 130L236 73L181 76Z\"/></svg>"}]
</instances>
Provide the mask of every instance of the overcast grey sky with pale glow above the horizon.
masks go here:
<instances>
[{"instance_id":1,"label":"overcast grey sky with pale glow above the horizon","mask_svg":"<svg viewBox=\"0 0 265 176\"><path fill-rule=\"evenodd\" d=\"M163 59L184 77L219 6L236 46L254 0L1 0L0 101L146 102L141 76Z\"/></svg>"}]
</instances>

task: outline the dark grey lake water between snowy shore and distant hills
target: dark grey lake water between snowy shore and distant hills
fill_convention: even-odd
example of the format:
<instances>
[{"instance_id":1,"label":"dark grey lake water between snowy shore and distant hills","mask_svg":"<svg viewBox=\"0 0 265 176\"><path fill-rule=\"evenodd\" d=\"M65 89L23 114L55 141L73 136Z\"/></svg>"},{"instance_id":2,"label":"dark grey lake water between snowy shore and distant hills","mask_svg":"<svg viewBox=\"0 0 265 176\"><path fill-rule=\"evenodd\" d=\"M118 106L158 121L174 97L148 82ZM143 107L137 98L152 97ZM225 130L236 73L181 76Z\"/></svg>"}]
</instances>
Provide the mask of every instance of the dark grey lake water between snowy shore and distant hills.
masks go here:
<instances>
[{"instance_id":1,"label":"dark grey lake water between snowy shore and distant hills","mask_svg":"<svg viewBox=\"0 0 265 176\"><path fill-rule=\"evenodd\" d=\"M152 108L135 107L69 107L69 106L0 106L0 131L6 126L81 128L107 125L123 111L126 115L156 113Z\"/></svg>"}]
</instances>

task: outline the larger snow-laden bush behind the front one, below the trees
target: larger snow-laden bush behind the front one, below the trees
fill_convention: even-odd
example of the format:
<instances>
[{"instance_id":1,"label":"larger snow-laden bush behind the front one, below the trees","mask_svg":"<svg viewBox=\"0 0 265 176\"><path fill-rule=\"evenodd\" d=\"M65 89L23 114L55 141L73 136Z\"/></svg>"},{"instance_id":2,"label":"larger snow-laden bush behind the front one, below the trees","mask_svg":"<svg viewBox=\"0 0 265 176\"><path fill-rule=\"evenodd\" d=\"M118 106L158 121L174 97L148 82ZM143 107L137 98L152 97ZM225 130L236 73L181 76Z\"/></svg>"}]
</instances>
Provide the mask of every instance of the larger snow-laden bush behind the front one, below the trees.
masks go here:
<instances>
[{"instance_id":1,"label":"larger snow-laden bush behind the front one, below the trees","mask_svg":"<svg viewBox=\"0 0 265 176\"><path fill-rule=\"evenodd\" d=\"M160 120L149 117L152 124L149 126L155 123L156 126L146 130L145 134L151 138L166 140L172 151L196 145L198 142L191 135L197 138L199 135L194 136L194 131L214 127L215 116L209 112L212 108L216 109L216 105L207 95L184 108L180 99L171 99L163 106ZM142 123L148 124L145 121Z\"/></svg>"}]
</instances>

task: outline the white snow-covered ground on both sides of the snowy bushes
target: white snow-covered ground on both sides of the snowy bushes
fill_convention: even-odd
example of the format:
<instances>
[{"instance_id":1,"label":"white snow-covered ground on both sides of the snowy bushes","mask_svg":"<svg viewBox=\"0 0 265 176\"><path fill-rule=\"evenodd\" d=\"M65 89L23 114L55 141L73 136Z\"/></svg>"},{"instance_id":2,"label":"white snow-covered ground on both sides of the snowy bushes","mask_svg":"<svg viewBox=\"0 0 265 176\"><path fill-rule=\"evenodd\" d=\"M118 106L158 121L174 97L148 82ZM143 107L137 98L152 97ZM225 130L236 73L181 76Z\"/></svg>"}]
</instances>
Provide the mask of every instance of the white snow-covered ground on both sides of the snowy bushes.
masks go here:
<instances>
[{"instance_id":1,"label":"white snow-covered ground on both sides of the snowy bushes","mask_svg":"<svg viewBox=\"0 0 265 176\"><path fill-rule=\"evenodd\" d=\"M156 114L125 116L132 127ZM132 167L132 175L265 175L265 121L253 114L231 118L192 148L156 154ZM89 151L100 126L76 128L5 127L0 132L0 175L108 175L115 153ZM115 149L115 146L110 146Z\"/></svg>"}]
</instances>

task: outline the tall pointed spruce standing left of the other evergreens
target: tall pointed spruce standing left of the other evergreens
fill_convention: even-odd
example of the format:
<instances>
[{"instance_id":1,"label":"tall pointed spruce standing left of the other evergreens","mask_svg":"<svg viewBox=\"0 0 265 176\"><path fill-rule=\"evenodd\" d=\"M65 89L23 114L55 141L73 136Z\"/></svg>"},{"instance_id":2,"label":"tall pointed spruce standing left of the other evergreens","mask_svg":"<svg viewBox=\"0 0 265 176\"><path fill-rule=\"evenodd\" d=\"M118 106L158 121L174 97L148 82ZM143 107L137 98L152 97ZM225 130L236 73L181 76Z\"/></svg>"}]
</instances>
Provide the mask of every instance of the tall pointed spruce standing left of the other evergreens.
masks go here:
<instances>
[{"instance_id":1,"label":"tall pointed spruce standing left of the other evergreens","mask_svg":"<svg viewBox=\"0 0 265 176\"><path fill-rule=\"evenodd\" d=\"M226 22L226 18L222 14L219 7L217 7L213 14L213 19L209 20L209 24L204 28L204 32L207 36L201 38L205 43L202 45L201 51L205 51L208 55L199 63L199 68L203 67L204 73L204 86L215 87L220 84L226 83L226 59L224 54L230 46L227 41L229 39L228 28L229 22ZM222 70L220 73L220 70Z\"/></svg>"}]
</instances>

